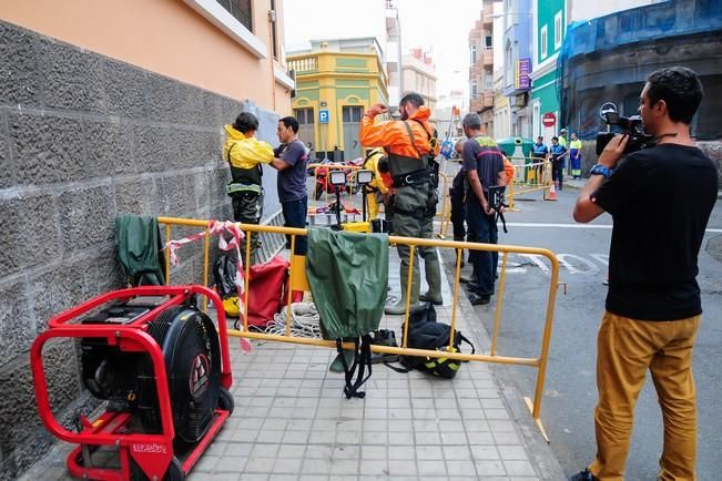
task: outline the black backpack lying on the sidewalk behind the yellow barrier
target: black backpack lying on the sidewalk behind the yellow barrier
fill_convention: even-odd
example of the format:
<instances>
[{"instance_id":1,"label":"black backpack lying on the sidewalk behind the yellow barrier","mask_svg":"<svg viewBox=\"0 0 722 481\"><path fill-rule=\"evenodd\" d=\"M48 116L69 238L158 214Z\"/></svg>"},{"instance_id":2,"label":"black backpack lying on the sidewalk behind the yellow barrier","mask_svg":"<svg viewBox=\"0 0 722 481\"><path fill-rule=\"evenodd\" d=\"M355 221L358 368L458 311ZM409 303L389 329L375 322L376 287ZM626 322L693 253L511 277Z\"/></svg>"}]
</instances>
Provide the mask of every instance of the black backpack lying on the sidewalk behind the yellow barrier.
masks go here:
<instances>
[{"instance_id":1,"label":"black backpack lying on the sidewalk behind the yellow barrier","mask_svg":"<svg viewBox=\"0 0 722 481\"><path fill-rule=\"evenodd\" d=\"M436 321L436 310L431 303L425 303L413 308L408 316L408 344L406 347L410 349L448 351L449 335L451 332L450 326ZM403 331L404 325L401 325ZM454 330L452 352L461 352L462 341L471 346L471 354L476 352L471 341L458 330ZM388 364L386 366L397 372L408 372L411 369L418 369L447 379L456 376L462 362L457 359L433 358L428 356L401 356L400 361L406 367L405 369L396 368Z\"/></svg>"}]
</instances>

